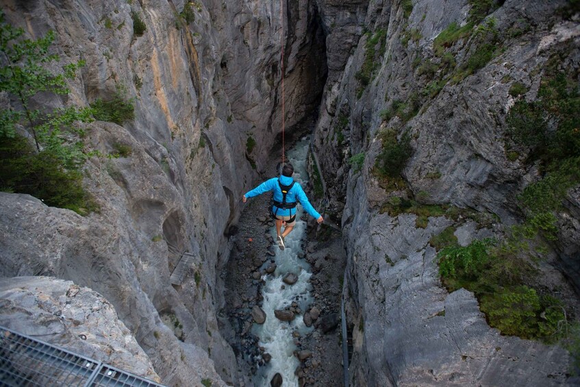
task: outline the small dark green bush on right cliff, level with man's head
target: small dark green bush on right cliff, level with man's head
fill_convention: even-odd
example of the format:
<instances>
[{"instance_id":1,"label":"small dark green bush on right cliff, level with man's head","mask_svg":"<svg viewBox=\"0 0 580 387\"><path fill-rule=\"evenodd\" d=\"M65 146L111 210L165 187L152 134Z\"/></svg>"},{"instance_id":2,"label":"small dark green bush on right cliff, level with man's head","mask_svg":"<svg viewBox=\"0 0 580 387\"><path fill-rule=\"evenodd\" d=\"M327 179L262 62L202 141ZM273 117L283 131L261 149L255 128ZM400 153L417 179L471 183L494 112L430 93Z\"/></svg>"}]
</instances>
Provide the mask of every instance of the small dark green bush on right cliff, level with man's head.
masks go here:
<instances>
[{"instance_id":1,"label":"small dark green bush on right cliff, level with man's head","mask_svg":"<svg viewBox=\"0 0 580 387\"><path fill-rule=\"evenodd\" d=\"M400 140L396 139L396 133L390 132L383 138L383 150L377 156L376 166L379 173L388 177L399 177L403 168L407 165L407 160L413 154L411 146L411 136L405 132Z\"/></svg>"}]
</instances>

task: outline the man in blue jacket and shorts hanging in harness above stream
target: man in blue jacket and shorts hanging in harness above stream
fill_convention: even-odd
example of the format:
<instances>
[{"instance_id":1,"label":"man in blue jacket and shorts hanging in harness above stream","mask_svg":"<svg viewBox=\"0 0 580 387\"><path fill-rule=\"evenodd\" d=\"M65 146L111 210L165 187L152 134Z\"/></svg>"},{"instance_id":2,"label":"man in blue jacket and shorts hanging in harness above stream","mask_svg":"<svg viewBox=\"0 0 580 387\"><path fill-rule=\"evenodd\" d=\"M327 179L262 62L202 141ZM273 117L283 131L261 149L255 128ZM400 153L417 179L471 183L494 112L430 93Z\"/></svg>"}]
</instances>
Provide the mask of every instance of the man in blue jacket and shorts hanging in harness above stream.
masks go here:
<instances>
[{"instance_id":1,"label":"man in blue jacket and shorts hanging in harness above stream","mask_svg":"<svg viewBox=\"0 0 580 387\"><path fill-rule=\"evenodd\" d=\"M274 205L272 206L272 216L276 221L276 234L278 247L283 250L284 238L290 234L294 225L296 225L296 204L299 201L302 207L308 212L318 223L323 223L323 216L318 214L302 189L302 186L294 182L292 174L294 173L294 166L288 163L282 168L282 175L266 180L253 190L249 190L242 197L242 201L262 195L264 192L274 192ZM281 232L282 222L286 222L284 232Z\"/></svg>"}]
</instances>

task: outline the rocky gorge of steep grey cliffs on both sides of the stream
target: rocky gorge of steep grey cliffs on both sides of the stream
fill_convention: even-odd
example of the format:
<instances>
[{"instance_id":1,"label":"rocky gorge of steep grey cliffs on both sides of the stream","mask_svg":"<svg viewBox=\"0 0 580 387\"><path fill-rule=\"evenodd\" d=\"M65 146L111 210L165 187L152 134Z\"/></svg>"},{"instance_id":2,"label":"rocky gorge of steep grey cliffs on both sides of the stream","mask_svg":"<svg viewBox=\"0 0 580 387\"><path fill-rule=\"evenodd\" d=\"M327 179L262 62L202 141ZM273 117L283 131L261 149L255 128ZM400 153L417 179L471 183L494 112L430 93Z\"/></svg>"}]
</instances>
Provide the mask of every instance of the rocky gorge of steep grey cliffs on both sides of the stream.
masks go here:
<instances>
[{"instance_id":1,"label":"rocky gorge of steep grey cliffs on both sides of the stream","mask_svg":"<svg viewBox=\"0 0 580 387\"><path fill-rule=\"evenodd\" d=\"M268 198L247 208L240 198L275 174L283 100L287 146L312 133L307 191L342 229L307 227L314 301L292 313L314 331L295 337L299 384L342 385L343 340L353 386L580 383L569 338L490 327L479 290L451 288L438 264L446 247L492 238L500 258L525 255L540 273L523 272L525 286L561 300L566 329L577 324L577 1L3 0L1 8L28 38L55 32L53 69L85 63L66 97L40 93L35 105L121 96L134 108L122 123L79 124L90 154L83 186L98 210L80 215L0 192L3 326L168 386L252 385L267 364L251 327L272 226ZM9 92L0 100L21 108ZM524 132L542 125L548 134L570 127L561 169ZM396 152L405 157L393 160ZM540 186L535 197L561 205L533 212L526 189L546 176L570 184L549 191L560 196ZM546 212L554 220L540 227ZM175 281L184 257L191 262ZM347 337L336 327L341 301Z\"/></svg>"}]
</instances>

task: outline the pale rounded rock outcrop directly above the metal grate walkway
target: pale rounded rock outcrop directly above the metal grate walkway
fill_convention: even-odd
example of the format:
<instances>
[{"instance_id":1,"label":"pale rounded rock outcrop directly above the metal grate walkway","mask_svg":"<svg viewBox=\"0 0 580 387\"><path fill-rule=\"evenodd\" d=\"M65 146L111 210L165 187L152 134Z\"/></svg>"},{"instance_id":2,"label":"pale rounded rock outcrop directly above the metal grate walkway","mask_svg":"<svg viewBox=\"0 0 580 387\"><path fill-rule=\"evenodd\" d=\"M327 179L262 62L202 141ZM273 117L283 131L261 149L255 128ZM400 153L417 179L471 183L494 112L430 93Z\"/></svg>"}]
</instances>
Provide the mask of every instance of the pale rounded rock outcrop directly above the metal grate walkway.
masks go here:
<instances>
[{"instance_id":1,"label":"pale rounded rock outcrop directly above the metal grate walkway","mask_svg":"<svg viewBox=\"0 0 580 387\"><path fill-rule=\"evenodd\" d=\"M103 296L51 277L0 279L0 325L160 382L153 364Z\"/></svg>"}]
</instances>

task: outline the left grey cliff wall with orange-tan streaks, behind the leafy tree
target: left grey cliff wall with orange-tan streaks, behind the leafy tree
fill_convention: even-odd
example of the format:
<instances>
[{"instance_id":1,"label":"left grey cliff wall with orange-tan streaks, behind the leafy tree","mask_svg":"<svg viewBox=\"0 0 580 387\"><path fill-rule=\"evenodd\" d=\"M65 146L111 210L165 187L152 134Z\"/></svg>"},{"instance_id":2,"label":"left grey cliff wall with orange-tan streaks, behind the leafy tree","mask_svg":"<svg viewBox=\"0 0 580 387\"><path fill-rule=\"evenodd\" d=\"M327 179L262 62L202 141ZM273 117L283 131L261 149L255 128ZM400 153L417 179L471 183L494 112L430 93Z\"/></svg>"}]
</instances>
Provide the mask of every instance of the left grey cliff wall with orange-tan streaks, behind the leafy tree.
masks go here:
<instances>
[{"instance_id":1,"label":"left grey cliff wall with orange-tan streaks, behind the leafy tree","mask_svg":"<svg viewBox=\"0 0 580 387\"><path fill-rule=\"evenodd\" d=\"M292 2L283 13L280 6L2 2L8 23L26 36L55 32L58 66L86 62L68 97L39 95L38 104L88 106L121 96L134 105L134 119L81 124L94 154L84 185L97 212L79 216L27 195L1 195L1 275L48 275L96 290L165 384L238 384L234 353L218 329L219 275L238 197L281 131L281 45L288 126L317 106L326 75L316 4ZM193 262L172 285L184 253Z\"/></svg>"}]
</instances>

